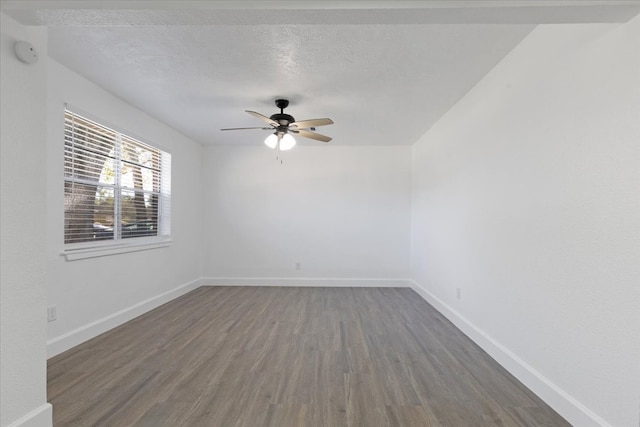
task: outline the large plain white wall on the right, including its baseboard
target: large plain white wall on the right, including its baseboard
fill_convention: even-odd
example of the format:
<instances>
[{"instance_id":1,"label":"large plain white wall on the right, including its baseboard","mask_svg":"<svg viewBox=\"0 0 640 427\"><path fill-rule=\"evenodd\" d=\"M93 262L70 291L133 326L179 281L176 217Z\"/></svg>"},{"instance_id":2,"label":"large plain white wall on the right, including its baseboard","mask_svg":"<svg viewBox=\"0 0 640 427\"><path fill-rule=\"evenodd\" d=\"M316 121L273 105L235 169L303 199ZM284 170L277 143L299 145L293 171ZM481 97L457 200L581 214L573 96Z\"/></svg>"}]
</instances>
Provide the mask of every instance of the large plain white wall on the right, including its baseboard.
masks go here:
<instances>
[{"instance_id":1,"label":"large plain white wall on the right, including its baseboard","mask_svg":"<svg viewBox=\"0 0 640 427\"><path fill-rule=\"evenodd\" d=\"M637 426L640 18L538 27L413 171L418 290L574 425Z\"/></svg>"}]
</instances>

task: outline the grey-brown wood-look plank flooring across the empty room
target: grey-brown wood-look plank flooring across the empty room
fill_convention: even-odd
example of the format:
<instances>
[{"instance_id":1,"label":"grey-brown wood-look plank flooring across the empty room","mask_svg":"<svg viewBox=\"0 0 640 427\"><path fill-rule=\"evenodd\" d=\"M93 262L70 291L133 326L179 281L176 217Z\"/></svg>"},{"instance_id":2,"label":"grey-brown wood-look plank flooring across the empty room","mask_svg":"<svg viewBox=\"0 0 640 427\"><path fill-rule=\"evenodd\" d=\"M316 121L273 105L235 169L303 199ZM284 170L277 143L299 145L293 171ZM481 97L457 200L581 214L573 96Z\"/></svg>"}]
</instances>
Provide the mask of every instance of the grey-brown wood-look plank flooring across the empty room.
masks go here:
<instances>
[{"instance_id":1,"label":"grey-brown wood-look plank flooring across the empty room","mask_svg":"<svg viewBox=\"0 0 640 427\"><path fill-rule=\"evenodd\" d=\"M406 288L202 287L48 362L54 426L568 426Z\"/></svg>"}]
</instances>

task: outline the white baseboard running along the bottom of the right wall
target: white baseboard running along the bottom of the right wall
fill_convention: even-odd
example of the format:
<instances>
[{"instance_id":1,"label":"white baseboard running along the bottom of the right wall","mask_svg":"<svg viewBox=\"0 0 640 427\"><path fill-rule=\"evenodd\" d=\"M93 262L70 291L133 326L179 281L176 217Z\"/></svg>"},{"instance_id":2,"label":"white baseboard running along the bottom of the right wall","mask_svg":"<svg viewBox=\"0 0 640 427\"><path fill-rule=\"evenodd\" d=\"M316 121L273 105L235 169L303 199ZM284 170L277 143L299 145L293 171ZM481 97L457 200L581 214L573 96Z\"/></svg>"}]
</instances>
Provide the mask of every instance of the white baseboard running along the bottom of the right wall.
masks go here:
<instances>
[{"instance_id":1,"label":"white baseboard running along the bottom of the right wall","mask_svg":"<svg viewBox=\"0 0 640 427\"><path fill-rule=\"evenodd\" d=\"M411 288L449 319L458 329L486 351L511 375L533 391L545 403L562 415L569 423L583 427L611 427L606 421L582 405L567 392L528 365L508 348L487 335L467 318L447 305L440 298L410 280Z\"/></svg>"}]
</instances>

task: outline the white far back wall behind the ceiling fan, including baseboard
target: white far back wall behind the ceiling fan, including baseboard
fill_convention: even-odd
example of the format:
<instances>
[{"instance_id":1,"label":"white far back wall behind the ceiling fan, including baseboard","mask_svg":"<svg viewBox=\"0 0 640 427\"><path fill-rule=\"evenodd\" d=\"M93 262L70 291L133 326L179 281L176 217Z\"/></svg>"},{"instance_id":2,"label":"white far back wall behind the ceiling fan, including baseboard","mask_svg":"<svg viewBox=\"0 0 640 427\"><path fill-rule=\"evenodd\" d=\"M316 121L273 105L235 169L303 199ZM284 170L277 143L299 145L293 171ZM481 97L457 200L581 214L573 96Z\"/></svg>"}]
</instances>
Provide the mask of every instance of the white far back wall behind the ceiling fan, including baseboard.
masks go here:
<instances>
[{"instance_id":1,"label":"white far back wall behind the ceiling fan, including baseboard","mask_svg":"<svg viewBox=\"0 0 640 427\"><path fill-rule=\"evenodd\" d=\"M406 286L410 147L300 141L280 164L259 139L204 159L209 282Z\"/></svg>"}]
</instances>

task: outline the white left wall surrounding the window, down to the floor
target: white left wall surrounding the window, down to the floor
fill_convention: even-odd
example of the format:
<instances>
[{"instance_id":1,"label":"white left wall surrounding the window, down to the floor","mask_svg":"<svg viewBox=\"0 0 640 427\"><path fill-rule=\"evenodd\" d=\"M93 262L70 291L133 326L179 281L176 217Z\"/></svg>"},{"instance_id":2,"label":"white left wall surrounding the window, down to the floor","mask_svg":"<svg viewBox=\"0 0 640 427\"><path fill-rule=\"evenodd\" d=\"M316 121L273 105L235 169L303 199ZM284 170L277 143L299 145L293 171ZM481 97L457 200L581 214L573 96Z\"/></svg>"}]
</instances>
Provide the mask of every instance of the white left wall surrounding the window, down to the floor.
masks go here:
<instances>
[{"instance_id":1,"label":"white left wall surrounding the window, down to the floor","mask_svg":"<svg viewBox=\"0 0 640 427\"><path fill-rule=\"evenodd\" d=\"M58 313L49 323L51 356L199 285L202 147L53 60L48 78L47 287ZM172 154L170 247L77 261L61 256L65 103Z\"/></svg>"}]
</instances>

